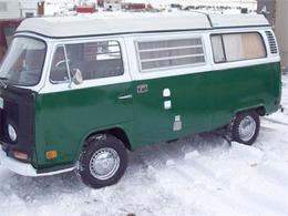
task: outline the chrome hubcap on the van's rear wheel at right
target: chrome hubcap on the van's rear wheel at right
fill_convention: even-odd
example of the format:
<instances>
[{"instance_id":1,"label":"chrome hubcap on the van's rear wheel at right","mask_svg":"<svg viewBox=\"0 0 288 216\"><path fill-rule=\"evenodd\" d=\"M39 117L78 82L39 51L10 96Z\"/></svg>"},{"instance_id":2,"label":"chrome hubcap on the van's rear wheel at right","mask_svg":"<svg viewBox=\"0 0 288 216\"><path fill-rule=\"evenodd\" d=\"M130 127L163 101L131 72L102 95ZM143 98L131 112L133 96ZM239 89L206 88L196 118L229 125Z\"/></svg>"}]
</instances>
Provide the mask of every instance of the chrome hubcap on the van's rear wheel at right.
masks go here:
<instances>
[{"instance_id":1,"label":"chrome hubcap on the van's rear wheel at right","mask_svg":"<svg viewBox=\"0 0 288 216\"><path fill-rule=\"evenodd\" d=\"M256 122L251 116L246 116L239 124L239 137L247 142L251 140L256 132Z\"/></svg>"}]
</instances>

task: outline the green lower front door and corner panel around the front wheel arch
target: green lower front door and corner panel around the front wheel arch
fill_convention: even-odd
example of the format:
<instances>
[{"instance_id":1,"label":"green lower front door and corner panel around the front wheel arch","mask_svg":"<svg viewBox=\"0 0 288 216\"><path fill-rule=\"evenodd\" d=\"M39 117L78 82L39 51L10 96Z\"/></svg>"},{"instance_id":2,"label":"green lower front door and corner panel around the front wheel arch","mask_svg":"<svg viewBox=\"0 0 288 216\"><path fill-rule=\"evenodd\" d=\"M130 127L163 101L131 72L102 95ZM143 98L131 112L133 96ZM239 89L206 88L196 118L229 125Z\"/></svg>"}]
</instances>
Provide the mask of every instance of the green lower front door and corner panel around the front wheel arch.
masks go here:
<instances>
[{"instance_id":1,"label":"green lower front door and corner panel around the front wheel arch","mask_svg":"<svg viewBox=\"0 0 288 216\"><path fill-rule=\"evenodd\" d=\"M78 158L81 143L93 132L120 126L130 132L133 120L132 100L119 96L131 90L132 83L106 85L40 94L37 99L38 168L64 165ZM56 150L56 160L47 160L45 152Z\"/></svg>"}]
</instances>

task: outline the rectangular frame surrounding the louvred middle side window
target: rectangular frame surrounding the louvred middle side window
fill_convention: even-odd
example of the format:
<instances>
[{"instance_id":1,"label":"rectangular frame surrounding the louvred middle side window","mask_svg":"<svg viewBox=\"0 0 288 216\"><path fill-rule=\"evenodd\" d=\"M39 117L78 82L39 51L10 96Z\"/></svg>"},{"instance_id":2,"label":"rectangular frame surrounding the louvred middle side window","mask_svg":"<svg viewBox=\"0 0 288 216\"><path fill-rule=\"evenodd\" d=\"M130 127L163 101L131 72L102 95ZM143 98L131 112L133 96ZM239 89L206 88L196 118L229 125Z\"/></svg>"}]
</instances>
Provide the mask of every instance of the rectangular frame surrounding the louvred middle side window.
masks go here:
<instances>
[{"instance_id":1,"label":"rectangular frame surrounding the louvred middle side window","mask_svg":"<svg viewBox=\"0 0 288 216\"><path fill-rule=\"evenodd\" d=\"M154 69L146 69L146 70L142 69L142 61L141 61L141 56L140 56L138 43L141 43L141 42L155 42L155 41L186 40L186 39L200 39L202 48L203 48L203 55L199 55L199 56L204 56L204 62L195 63L195 64L183 64L183 65L174 65L174 66L154 68ZM186 34L185 37L178 35L177 38L175 35L173 35L173 37L165 37L165 35L158 37L157 35L157 37L155 37L155 39L147 39L147 38L135 39L134 40L134 47L135 47L135 52L136 52L135 54L136 54L137 68L138 68L140 73L152 73L152 72L161 72L161 71L173 70L173 69L185 69L185 68L207 65L207 51L206 51L206 44L205 44L205 40L204 40L203 34L194 34L194 35L187 35ZM179 47L177 47L177 48L179 48ZM183 55L183 58L185 58L185 56ZM181 59L181 58L178 58L178 59Z\"/></svg>"}]
</instances>

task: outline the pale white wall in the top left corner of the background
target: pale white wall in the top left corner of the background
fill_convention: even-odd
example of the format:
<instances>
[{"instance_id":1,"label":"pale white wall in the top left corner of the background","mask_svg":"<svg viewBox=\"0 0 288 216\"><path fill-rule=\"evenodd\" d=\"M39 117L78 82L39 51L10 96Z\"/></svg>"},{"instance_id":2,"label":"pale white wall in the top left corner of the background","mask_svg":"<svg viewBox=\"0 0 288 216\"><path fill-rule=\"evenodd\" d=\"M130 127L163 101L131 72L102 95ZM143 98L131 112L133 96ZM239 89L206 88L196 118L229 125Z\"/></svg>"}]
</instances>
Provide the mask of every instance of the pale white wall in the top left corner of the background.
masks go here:
<instances>
[{"instance_id":1,"label":"pale white wall in the top left corner of the background","mask_svg":"<svg viewBox=\"0 0 288 216\"><path fill-rule=\"evenodd\" d=\"M0 19L20 18L19 0L0 0Z\"/></svg>"}]
</instances>

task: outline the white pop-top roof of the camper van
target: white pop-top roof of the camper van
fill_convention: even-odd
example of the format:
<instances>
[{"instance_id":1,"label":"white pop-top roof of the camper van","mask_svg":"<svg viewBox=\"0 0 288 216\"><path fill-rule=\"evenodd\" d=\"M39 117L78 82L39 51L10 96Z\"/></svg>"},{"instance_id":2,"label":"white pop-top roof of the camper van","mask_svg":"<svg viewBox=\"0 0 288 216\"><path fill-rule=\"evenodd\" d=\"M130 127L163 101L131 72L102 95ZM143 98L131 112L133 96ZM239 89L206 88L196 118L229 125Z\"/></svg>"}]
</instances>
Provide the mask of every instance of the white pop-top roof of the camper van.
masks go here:
<instances>
[{"instance_id":1,"label":"white pop-top roof of the camper van","mask_svg":"<svg viewBox=\"0 0 288 216\"><path fill-rule=\"evenodd\" d=\"M90 16L30 18L18 28L51 38L154 31L204 30L213 28L268 25L259 14L96 13Z\"/></svg>"}]
</instances>

